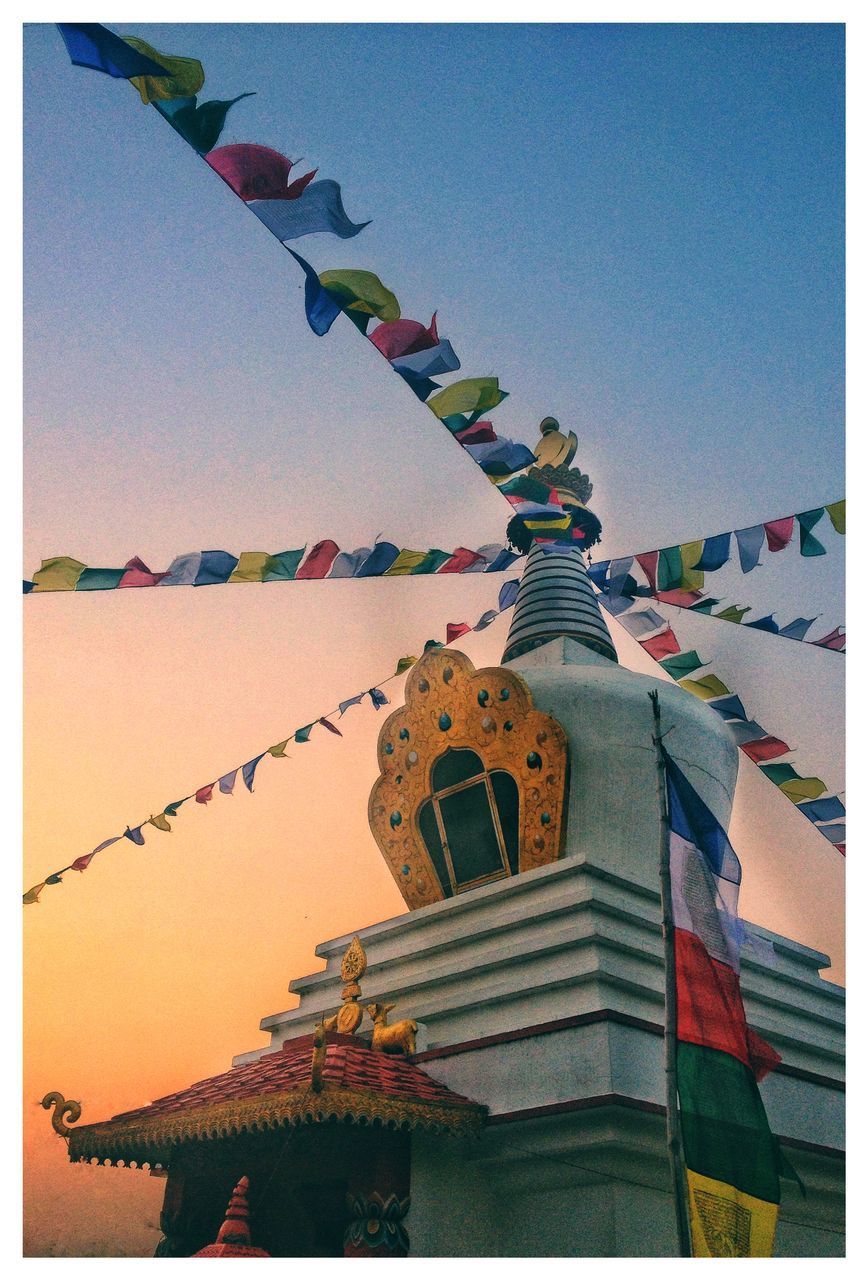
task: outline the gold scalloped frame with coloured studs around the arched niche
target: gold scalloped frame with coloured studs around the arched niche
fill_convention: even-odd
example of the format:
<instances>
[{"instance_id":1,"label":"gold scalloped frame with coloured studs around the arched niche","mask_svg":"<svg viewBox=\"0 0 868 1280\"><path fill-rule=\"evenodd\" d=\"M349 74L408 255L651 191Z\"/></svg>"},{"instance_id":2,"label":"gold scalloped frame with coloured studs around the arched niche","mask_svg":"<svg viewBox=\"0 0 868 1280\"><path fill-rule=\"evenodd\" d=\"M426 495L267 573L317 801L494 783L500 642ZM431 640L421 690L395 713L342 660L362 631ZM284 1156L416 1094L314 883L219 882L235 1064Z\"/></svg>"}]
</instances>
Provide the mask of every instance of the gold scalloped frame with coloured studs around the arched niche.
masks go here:
<instances>
[{"instance_id":1,"label":"gold scalloped frame with coloured studs around the arched niche","mask_svg":"<svg viewBox=\"0 0 868 1280\"><path fill-rule=\"evenodd\" d=\"M380 776L367 820L405 902L444 899L419 827L431 771L449 749L475 751L485 771L504 769L518 790L518 872L557 861L566 835L567 737L534 707L508 667L481 667L456 649L430 649L410 671L406 704L380 730ZM504 870L504 876L507 872ZM467 887L462 886L461 892Z\"/></svg>"}]
</instances>

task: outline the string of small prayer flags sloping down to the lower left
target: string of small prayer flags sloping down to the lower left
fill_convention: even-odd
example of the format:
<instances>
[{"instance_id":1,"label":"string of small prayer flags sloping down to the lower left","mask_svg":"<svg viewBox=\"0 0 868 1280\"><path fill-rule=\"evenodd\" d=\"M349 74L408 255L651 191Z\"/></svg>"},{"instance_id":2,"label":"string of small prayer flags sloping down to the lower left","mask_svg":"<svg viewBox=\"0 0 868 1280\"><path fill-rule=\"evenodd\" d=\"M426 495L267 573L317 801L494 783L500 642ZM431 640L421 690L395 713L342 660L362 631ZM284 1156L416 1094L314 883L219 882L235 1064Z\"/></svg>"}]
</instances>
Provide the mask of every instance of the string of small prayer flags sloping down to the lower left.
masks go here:
<instances>
[{"instance_id":1,"label":"string of small prayer flags sloping down to the lower left","mask_svg":"<svg viewBox=\"0 0 868 1280\"><path fill-rule=\"evenodd\" d=\"M518 581L515 580L511 582L506 582L501 588L498 608L486 609L486 612L483 613L475 627L471 627L467 623L451 623L449 627L458 627L461 635L465 635L469 631L481 631L484 627L489 626L495 617L498 617L501 613L504 613L507 609L512 607L517 594L518 594ZM425 652L433 648L440 649L443 648L443 645L439 640L428 640L425 643ZM417 660L419 660L417 658L414 658L411 655L399 658L393 675L387 676L383 684L388 684L389 680L396 680L398 676L408 671ZM366 689L362 692L356 694L355 698L347 698L342 703L339 703L337 713L339 716L343 716L350 707L358 705L365 698L370 698L371 707L374 707L375 710L380 710L380 708L389 705L388 696L383 692L379 685L374 685L370 689ZM46 884L59 884L61 882L60 877L65 872L87 870L96 854L101 852L104 849L108 849L110 845L117 844L117 841L123 840L125 837L127 840L131 840L134 845L143 845L145 833L142 831L142 827L145 826L156 827L157 831L163 832L172 832L172 827L168 822L168 818L177 817L178 809L181 809L181 806L186 804L187 800L195 799L198 804L205 805L211 800L215 786L219 788L219 792L221 795L232 795L233 788L236 786L236 778L239 772L245 786L247 787L248 791L252 792L253 777L260 762L266 755L270 755L274 759L288 759L285 748L289 744L289 740L292 739L293 741L302 744L307 742L316 724L321 724L324 730L328 730L329 733L333 733L337 737L343 737L342 731L329 718L330 716L334 714L335 712L332 710L328 712L325 716L319 716L315 721L311 721L309 724L302 724L300 728L294 730L293 733L287 735L287 737L284 737L283 741L275 742L273 746L266 748L265 751L261 751L259 755L253 756L252 760L248 760L246 764L242 765L236 765L234 769L229 769L218 780L218 782L209 782L206 786L198 787L188 796L184 796L181 800L174 800L172 804L165 805L165 808L159 814L152 814L150 818L146 819L146 822L140 823L138 827L127 827L123 832L123 836L111 836L109 837L109 840L104 840L100 845L92 849L90 854L83 854L82 856L77 858L73 863L70 863L68 867L61 867L58 872L52 872L50 876L47 876L45 881L41 881L38 884L35 884L32 888L29 888L23 895L24 905L32 905L35 902L38 902L40 893L46 887Z\"/></svg>"}]
</instances>

